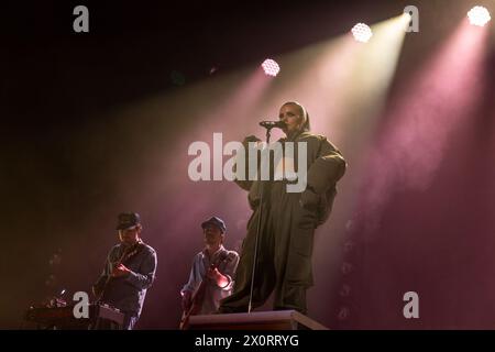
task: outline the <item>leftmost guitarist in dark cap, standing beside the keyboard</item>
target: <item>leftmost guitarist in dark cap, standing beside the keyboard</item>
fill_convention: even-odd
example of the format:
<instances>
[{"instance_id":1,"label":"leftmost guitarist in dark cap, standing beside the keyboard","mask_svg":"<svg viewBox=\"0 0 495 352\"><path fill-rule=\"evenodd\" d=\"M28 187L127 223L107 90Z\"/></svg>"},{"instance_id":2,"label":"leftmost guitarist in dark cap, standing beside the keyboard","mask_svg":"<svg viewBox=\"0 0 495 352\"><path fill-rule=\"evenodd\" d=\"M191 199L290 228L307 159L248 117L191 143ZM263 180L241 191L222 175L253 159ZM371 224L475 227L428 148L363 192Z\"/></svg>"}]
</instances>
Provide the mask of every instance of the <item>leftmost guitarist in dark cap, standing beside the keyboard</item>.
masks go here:
<instances>
[{"instance_id":1,"label":"leftmost guitarist in dark cap, standing beside the keyboard","mask_svg":"<svg viewBox=\"0 0 495 352\"><path fill-rule=\"evenodd\" d=\"M141 239L142 229L138 213L119 215L120 243L110 250L103 272L92 286L98 302L124 314L125 330L132 330L138 322L146 290L155 278L156 252Z\"/></svg>"}]
</instances>

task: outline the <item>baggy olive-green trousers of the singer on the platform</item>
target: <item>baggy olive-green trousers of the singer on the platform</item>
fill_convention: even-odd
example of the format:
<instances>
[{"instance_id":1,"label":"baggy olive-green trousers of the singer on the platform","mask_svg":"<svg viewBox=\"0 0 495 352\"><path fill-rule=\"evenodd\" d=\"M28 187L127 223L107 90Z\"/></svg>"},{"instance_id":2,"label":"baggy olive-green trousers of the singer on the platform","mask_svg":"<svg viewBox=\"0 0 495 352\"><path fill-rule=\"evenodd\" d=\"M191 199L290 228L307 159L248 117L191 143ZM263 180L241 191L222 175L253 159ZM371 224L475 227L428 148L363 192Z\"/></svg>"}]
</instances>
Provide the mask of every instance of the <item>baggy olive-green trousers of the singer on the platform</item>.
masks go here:
<instances>
[{"instance_id":1,"label":"baggy olive-green trousers of the singer on the platform","mask_svg":"<svg viewBox=\"0 0 495 352\"><path fill-rule=\"evenodd\" d=\"M253 308L262 306L275 290L274 309L307 312L306 290L312 285L312 241L316 215L300 206L300 194L286 191L286 183L272 183L268 202L256 208L235 274L234 292L221 301L220 312L246 311L260 217L261 231L253 285ZM266 197L265 196L265 197Z\"/></svg>"}]
</instances>

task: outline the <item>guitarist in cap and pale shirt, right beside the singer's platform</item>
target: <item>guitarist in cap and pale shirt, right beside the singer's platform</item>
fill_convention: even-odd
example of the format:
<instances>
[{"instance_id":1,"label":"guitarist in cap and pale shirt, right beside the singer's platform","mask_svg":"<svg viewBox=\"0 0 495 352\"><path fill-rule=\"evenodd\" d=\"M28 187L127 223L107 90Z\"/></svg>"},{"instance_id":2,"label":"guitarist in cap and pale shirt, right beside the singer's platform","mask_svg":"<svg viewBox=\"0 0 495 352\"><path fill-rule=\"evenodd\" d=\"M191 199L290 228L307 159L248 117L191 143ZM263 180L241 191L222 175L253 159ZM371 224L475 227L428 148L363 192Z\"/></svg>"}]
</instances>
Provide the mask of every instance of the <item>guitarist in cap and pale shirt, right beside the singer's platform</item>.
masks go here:
<instances>
[{"instance_id":1,"label":"guitarist in cap and pale shirt, right beside the singer's platform","mask_svg":"<svg viewBox=\"0 0 495 352\"><path fill-rule=\"evenodd\" d=\"M223 220L211 217L201 223L201 228L205 249L196 254L189 280L180 290L185 316L216 312L220 299L232 293L232 278L239 263L239 254L223 246L227 232Z\"/></svg>"}]
</instances>

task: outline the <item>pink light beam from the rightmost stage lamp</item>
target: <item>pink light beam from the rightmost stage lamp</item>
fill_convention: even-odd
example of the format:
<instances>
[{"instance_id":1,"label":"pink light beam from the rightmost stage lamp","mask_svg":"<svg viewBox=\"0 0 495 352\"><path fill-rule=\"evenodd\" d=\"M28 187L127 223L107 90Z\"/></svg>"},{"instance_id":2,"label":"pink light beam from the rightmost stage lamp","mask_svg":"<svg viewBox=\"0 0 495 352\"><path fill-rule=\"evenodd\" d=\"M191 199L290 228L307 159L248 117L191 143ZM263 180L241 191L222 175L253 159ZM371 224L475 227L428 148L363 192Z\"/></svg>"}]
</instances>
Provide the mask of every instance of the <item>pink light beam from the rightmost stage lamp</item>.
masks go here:
<instances>
[{"instance_id":1,"label":"pink light beam from the rightmost stage lamp","mask_svg":"<svg viewBox=\"0 0 495 352\"><path fill-rule=\"evenodd\" d=\"M486 37L459 26L389 106L361 199L372 228L395 191L428 189L452 135L470 123L485 84Z\"/></svg>"}]
</instances>

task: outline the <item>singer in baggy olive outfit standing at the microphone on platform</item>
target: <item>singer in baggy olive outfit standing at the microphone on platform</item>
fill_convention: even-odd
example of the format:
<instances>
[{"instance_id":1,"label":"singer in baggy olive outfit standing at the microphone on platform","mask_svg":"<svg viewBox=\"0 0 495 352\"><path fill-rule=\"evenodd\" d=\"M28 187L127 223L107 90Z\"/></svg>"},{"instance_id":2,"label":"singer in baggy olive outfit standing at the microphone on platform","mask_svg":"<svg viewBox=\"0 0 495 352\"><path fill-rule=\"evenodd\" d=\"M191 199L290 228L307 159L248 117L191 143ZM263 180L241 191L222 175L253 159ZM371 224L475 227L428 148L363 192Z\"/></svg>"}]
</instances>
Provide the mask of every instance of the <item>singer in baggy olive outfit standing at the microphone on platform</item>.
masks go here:
<instances>
[{"instance_id":1,"label":"singer in baggy olive outfit standing at the microphone on platform","mask_svg":"<svg viewBox=\"0 0 495 352\"><path fill-rule=\"evenodd\" d=\"M307 314L306 290L314 284L315 229L330 215L337 182L344 175L346 163L324 136L309 132L309 116L300 103L284 103L279 121L286 134L278 141L282 145L287 142L307 144L307 186L302 193L287 191L286 185L294 180L284 178L284 167L290 165L297 169L297 158L289 160L286 155L271 168L274 173L270 180L235 180L249 191L253 213L242 244L234 292L221 301L219 312L248 311L250 298L252 308L256 308L275 290L275 310L295 309ZM252 136L244 140L250 141ZM260 199L263 199L262 207ZM252 278L256 233L258 250Z\"/></svg>"}]
</instances>

